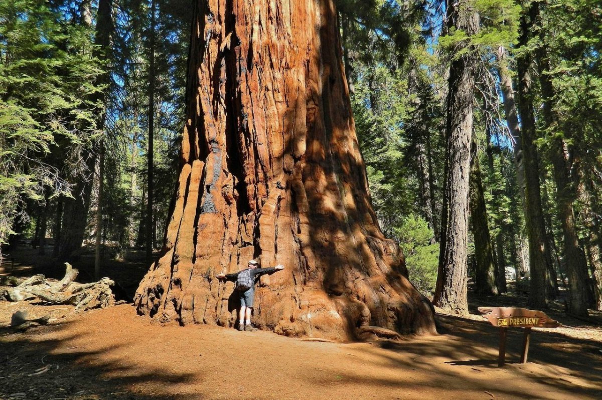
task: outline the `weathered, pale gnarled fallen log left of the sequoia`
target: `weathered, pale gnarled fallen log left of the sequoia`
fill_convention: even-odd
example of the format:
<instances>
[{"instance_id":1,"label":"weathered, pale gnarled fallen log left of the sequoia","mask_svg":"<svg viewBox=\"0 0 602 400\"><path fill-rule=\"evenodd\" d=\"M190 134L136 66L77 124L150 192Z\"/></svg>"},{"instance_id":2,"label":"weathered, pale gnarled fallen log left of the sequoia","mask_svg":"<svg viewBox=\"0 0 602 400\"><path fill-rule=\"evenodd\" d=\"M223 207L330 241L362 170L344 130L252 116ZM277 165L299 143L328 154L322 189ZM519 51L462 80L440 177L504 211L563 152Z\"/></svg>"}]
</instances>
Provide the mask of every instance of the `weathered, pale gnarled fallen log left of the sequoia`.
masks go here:
<instances>
[{"instance_id":1,"label":"weathered, pale gnarled fallen log left of the sequoia","mask_svg":"<svg viewBox=\"0 0 602 400\"><path fill-rule=\"evenodd\" d=\"M111 286L115 283L112 280L102 278L98 282L77 283L74 280L78 270L69 263L65 263L65 266L65 275L60 281L46 279L44 275L35 275L14 288L0 291L0 300L40 300L49 304L73 304L75 312L115 304L115 296L111 291ZM8 282L18 281L8 280Z\"/></svg>"}]
</instances>

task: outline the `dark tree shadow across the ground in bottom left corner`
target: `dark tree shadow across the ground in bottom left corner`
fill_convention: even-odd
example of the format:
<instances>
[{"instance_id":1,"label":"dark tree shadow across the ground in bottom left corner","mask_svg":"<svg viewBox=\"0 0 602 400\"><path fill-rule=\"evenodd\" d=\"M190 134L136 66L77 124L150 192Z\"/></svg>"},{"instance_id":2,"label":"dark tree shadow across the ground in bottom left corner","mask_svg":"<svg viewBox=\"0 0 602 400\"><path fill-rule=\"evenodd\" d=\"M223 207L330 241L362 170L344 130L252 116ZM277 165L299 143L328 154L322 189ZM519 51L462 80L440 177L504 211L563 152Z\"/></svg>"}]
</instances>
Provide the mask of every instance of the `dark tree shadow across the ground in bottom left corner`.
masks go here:
<instances>
[{"instance_id":1,"label":"dark tree shadow across the ground in bottom left corner","mask_svg":"<svg viewBox=\"0 0 602 400\"><path fill-rule=\"evenodd\" d=\"M165 395L166 392L155 394L142 390L145 384L152 382L166 387L169 392L170 386L190 381L190 374L175 374L160 368L139 371L127 358L110 357L112 362L101 361L107 360L107 355L116 352L119 346L81 351L77 346L65 345L85 333L70 334L60 340L47 337L49 329L57 333L66 330L69 324L72 322L31 328L26 333L0 328L0 399L190 398L181 393ZM141 386L141 389L131 389L136 386Z\"/></svg>"}]
</instances>

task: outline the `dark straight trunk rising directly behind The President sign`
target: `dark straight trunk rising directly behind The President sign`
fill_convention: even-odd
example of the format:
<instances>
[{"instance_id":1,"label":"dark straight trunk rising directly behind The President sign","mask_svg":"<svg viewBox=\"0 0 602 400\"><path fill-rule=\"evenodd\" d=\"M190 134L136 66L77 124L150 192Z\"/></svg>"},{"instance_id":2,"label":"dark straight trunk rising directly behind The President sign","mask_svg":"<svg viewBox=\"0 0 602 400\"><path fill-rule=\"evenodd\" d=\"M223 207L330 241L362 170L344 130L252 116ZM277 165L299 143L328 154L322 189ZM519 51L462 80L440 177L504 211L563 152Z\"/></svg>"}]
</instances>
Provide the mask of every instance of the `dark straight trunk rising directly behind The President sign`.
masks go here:
<instances>
[{"instance_id":1,"label":"dark straight trunk rising directly behind The President sign","mask_svg":"<svg viewBox=\"0 0 602 400\"><path fill-rule=\"evenodd\" d=\"M520 22L519 46L529 42L535 19L539 15L538 2L531 2ZM529 239L530 291L529 305L545 308L548 305L548 268L552 260L545 232L544 215L541 208L539 186L539 164L535 146L535 116L533 115L533 93L531 79L532 57L524 51L517 57L518 99L521 118L521 139L525 173L525 224Z\"/></svg>"}]
</instances>

